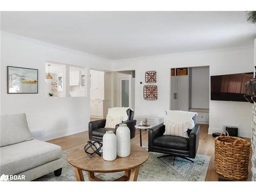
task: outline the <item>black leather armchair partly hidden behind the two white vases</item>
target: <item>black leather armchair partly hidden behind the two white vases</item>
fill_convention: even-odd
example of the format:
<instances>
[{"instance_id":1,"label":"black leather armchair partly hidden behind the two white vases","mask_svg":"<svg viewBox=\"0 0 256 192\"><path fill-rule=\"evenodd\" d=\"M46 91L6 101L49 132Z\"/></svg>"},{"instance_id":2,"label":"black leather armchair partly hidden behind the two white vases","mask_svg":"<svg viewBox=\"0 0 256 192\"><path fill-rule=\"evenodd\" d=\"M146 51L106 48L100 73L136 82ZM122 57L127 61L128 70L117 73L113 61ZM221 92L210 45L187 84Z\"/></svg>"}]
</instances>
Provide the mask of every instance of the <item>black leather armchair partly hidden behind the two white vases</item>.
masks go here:
<instances>
[{"instance_id":1,"label":"black leather armchair partly hidden behind the two white vases","mask_svg":"<svg viewBox=\"0 0 256 192\"><path fill-rule=\"evenodd\" d=\"M128 109L126 111L128 115L127 121L124 121L122 123L127 124L127 127L129 127L131 132L131 139L135 137L136 129L136 120L133 120L134 117L134 111L131 109ZM116 133L117 127L119 127L119 124L116 125L115 129L113 128L105 128L106 119L101 119L97 121L91 121L89 122L89 139L95 139L97 141L102 141L103 135L106 133L106 131L113 131Z\"/></svg>"}]
</instances>

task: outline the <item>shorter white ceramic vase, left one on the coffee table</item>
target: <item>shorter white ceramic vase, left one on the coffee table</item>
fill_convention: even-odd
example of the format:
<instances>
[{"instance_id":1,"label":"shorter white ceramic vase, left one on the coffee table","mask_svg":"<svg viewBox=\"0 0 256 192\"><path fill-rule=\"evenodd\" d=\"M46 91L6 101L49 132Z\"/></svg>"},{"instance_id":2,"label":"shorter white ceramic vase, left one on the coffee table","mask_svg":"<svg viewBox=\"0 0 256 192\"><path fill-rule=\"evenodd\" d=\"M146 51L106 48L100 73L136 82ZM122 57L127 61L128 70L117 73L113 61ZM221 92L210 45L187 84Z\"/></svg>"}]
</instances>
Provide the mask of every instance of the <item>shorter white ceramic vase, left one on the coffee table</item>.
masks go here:
<instances>
[{"instance_id":1,"label":"shorter white ceramic vase, left one on the coffee table","mask_svg":"<svg viewBox=\"0 0 256 192\"><path fill-rule=\"evenodd\" d=\"M103 159L113 161L116 159L116 135L113 131L106 131L103 135Z\"/></svg>"}]
</instances>

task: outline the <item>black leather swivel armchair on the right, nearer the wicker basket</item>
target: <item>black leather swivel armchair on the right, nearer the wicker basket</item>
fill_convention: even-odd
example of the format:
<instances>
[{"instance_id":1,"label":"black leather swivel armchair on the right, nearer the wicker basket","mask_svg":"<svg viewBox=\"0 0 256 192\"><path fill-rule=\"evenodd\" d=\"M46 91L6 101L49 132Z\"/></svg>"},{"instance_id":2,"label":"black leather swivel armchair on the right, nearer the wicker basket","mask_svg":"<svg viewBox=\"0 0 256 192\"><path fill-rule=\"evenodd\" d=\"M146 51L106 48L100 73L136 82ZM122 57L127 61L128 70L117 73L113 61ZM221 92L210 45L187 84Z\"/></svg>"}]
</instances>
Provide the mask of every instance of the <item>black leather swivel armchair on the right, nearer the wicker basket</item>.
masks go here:
<instances>
[{"instance_id":1,"label":"black leather swivel armchair on the right, nearer the wicker basket","mask_svg":"<svg viewBox=\"0 0 256 192\"><path fill-rule=\"evenodd\" d=\"M165 132L165 125L161 123L148 130L148 152L168 154L158 158L173 156L174 162L175 157L180 157L194 162L188 158L194 159L197 155L199 131L200 126L195 125L193 130L191 130L190 133L188 132L188 138L173 135L163 135Z\"/></svg>"}]
</instances>

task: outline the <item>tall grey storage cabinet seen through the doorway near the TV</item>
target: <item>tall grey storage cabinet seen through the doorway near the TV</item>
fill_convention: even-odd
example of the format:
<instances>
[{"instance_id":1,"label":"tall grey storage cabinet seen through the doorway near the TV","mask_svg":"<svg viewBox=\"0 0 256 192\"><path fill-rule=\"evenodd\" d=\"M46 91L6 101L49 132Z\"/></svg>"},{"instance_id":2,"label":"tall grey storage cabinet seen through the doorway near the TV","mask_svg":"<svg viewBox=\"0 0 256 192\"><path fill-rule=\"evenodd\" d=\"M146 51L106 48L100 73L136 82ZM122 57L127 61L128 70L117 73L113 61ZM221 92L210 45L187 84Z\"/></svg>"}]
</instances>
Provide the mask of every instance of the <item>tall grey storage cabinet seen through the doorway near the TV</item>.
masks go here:
<instances>
[{"instance_id":1,"label":"tall grey storage cabinet seen through the doorway near the TV","mask_svg":"<svg viewBox=\"0 0 256 192\"><path fill-rule=\"evenodd\" d=\"M187 68L186 68L187 69ZM175 73L176 74L176 73ZM189 72L186 75L170 77L170 109L188 111L189 108Z\"/></svg>"}]
</instances>

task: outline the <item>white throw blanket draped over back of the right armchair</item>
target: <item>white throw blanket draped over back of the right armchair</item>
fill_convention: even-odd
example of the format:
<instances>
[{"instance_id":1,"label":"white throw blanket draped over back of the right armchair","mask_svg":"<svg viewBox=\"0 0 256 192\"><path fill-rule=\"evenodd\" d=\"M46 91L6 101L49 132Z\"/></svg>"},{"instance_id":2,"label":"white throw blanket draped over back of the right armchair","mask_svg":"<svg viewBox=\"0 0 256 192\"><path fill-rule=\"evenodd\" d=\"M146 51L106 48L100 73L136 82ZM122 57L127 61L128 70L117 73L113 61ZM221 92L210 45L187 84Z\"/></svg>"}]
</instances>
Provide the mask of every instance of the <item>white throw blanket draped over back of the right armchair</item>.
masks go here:
<instances>
[{"instance_id":1,"label":"white throw blanket draped over back of the right armchair","mask_svg":"<svg viewBox=\"0 0 256 192\"><path fill-rule=\"evenodd\" d=\"M170 121L173 123L188 123L188 129L193 129L195 126L195 123L193 121L193 117L195 115L198 115L197 112L187 112L187 111L174 111L174 110L168 110L166 111L166 115L164 117L164 125L165 121Z\"/></svg>"}]
</instances>

